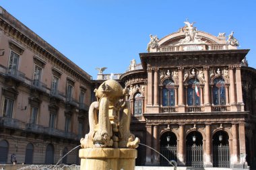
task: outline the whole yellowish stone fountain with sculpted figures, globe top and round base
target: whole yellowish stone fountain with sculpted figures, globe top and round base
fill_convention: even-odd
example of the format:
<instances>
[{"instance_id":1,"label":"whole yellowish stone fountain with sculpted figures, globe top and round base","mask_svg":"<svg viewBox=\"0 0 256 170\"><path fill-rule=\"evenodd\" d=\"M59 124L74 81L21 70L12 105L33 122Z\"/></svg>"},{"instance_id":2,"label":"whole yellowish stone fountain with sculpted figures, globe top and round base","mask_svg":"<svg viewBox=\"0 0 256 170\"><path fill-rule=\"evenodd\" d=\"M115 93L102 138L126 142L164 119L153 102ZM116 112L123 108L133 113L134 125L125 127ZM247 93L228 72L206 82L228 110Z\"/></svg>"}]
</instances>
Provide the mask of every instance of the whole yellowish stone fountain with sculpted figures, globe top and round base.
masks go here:
<instances>
[{"instance_id":1,"label":"whole yellowish stone fountain with sculpted figures, globe top and round base","mask_svg":"<svg viewBox=\"0 0 256 170\"><path fill-rule=\"evenodd\" d=\"M135 169L139 138L130 132L128 89L110 79L94 92L97 101L89 109L90 132L80 140L80 169Z\"/></svg>"}]
</instances>

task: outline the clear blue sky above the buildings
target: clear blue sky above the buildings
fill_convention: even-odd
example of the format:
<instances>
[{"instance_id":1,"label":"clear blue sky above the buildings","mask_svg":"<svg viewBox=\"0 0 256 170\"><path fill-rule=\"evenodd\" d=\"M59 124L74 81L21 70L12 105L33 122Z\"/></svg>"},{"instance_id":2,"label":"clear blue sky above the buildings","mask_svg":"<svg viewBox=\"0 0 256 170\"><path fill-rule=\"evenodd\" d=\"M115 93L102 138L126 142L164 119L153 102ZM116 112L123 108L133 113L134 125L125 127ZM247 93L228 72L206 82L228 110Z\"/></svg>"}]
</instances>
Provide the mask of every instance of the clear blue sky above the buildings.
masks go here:
<instances>
[{"instance_id":1,"label":"clear blue sky above the buildings","mask_svg":"<svg viewBox=\"0 0 256 170\"><path fill-rule=\"evenodd\" d=\"M234 31L249 66L256 68L255 0L1 0L0 5L33 32L92 75L124 73L130 61L146 52L149 35L177 32L184 21L218 36Z\"/></svg>"}]
</instances>

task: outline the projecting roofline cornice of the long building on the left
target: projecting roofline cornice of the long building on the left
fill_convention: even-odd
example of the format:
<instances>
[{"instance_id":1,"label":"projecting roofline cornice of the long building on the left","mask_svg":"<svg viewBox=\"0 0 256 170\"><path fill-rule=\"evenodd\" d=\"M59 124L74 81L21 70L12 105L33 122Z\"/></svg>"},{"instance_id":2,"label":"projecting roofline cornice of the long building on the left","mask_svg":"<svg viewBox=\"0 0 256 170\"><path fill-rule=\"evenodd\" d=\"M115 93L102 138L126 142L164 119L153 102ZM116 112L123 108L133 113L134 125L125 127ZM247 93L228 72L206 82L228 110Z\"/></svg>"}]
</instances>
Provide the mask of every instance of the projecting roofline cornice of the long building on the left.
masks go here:
<instances>
[{"instance_id":1,"label":"projecting roofline cornice of the long building on the left","mask_svg":"<svg viewBox=\"0 0 256 170\"><path fill-rule=\"evenodd\" d=\"M61 52L40 38L40 36L32 32L32 30L9 14L5 9L0 7L0 11L0 29L7 36L11 36L13 39L27 46L28 49L33 50L36 54L49 58L56 65L62 67L63 70L71 72L70 74L75 75L77 79L84 79L84 83L91 84L92 77L88 73L75 65L69 58L61 54Z\"/></svg>"}]
</instances>

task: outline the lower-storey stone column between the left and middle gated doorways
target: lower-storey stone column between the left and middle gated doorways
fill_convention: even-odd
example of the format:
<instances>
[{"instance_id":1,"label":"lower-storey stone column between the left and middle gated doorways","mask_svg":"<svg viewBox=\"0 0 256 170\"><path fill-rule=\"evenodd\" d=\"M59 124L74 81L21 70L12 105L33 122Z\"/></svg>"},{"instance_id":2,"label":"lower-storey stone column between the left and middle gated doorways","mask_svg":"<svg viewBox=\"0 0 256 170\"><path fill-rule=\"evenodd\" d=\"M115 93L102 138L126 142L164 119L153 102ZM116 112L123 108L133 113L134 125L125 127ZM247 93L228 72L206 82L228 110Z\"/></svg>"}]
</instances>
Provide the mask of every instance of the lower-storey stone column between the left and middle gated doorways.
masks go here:
<instances>
[{"instance_id":1,"label":"lower-storey stone column between the left and middle gated doorways","mask_svg":"<svg viewBox=\"0 0 256 170\"><path fill-rule=\"evenodd\" d=\"M178 165L185 166L185 127L183 124L179 126L179 150L178 150Z\"/></svg>"}]
</instances>

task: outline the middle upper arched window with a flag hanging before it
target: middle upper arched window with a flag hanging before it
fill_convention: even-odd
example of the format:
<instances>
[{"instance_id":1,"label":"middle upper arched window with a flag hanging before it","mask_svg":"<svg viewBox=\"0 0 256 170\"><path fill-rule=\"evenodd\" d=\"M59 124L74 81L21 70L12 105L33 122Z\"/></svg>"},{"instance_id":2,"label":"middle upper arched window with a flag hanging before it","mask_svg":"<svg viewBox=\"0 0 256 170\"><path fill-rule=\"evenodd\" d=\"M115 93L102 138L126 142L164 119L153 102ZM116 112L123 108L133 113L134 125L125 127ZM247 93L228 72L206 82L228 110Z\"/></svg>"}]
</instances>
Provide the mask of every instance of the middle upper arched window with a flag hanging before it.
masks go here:
<instances>
[{"instance_id":1,"label":"middle upper arched window with a flag hanging before it","mask_svg":"<svg viewBox=\"0 0 256 170\"><path fill-rule=\"evenodd\" d=\"M200 105L199 80L190 79L187 83L187 105Z\"/></svg>"}]
</instances>

